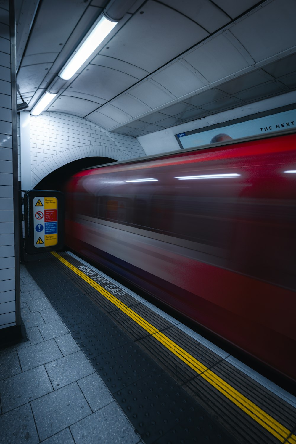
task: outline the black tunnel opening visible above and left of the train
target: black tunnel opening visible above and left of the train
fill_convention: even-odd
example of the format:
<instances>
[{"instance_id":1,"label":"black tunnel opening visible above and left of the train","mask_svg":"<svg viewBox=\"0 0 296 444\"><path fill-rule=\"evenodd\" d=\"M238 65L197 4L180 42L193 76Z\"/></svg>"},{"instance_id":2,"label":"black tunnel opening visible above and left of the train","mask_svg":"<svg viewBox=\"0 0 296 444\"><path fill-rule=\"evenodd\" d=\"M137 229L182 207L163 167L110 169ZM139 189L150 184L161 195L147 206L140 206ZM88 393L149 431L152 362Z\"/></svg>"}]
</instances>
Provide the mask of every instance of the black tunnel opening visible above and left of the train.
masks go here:
<instances>
[{"instance_id":1,"label":"black tunnel opening visible above and left of the train","mask_svg":"<svg viewBox=\"0 0 296 444\"><path fill-rule=\"evenodd\" d=\"M40 182L34 186L34 190L57 190L62 191L67 180L75 173L84 168L91 168L92 166L104 165L106 163L117 162L117 160L109 157L85 157L83 159L74 160L66 165L57 168L50 174L47 174Z\"/></svg>"}]
</instances>

